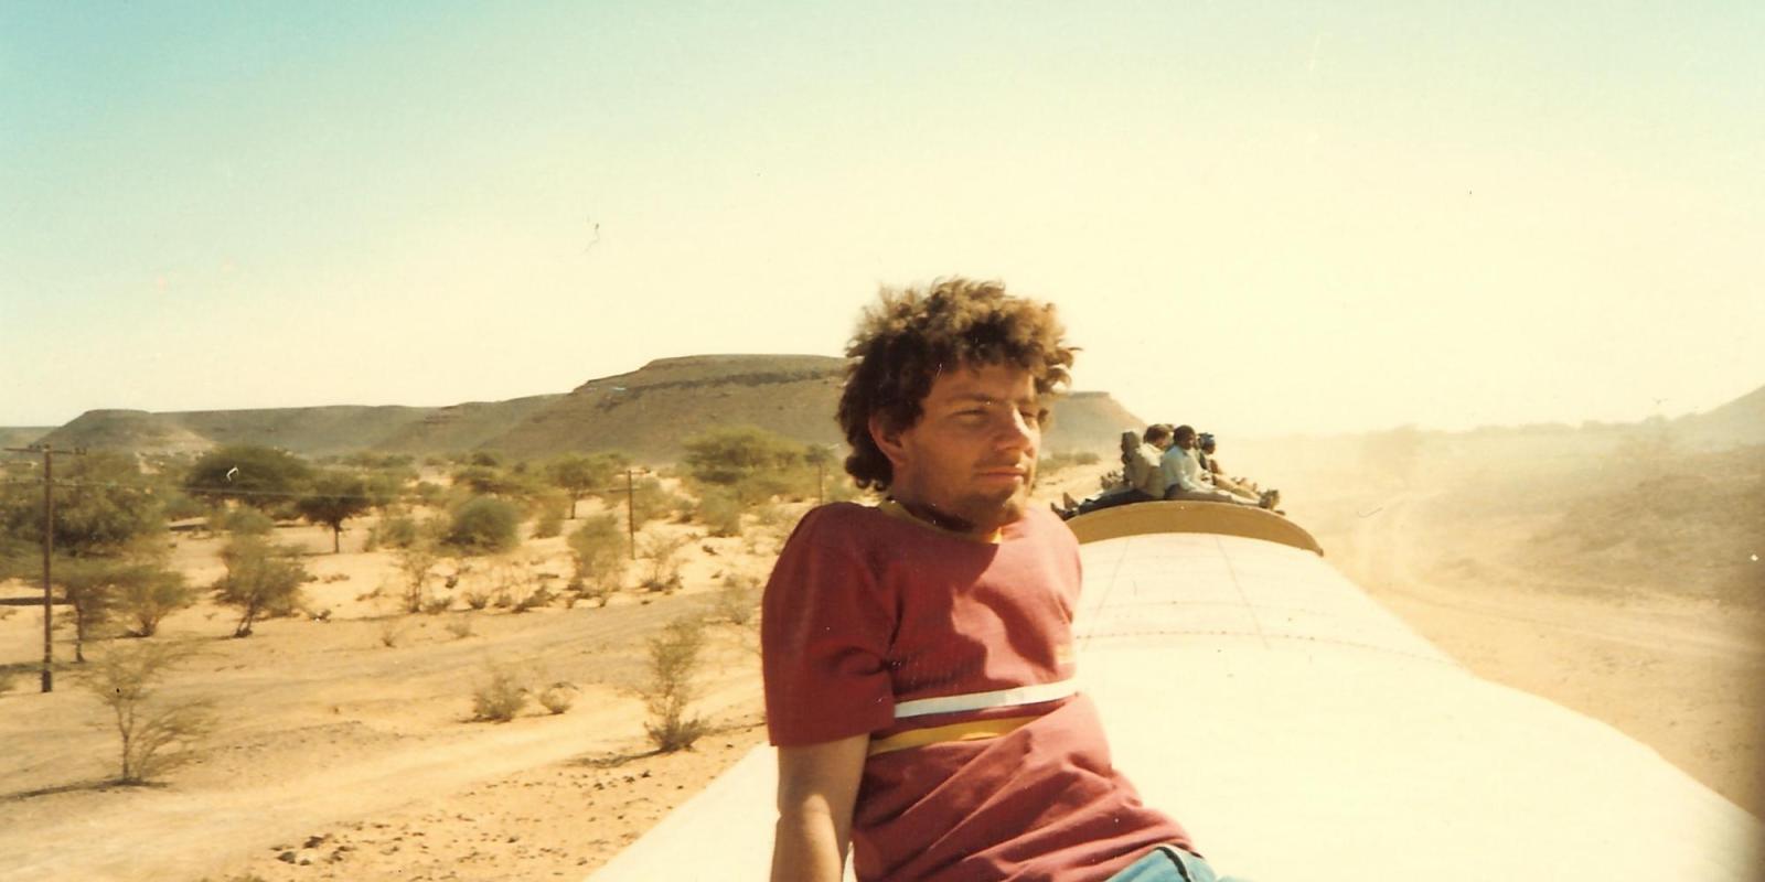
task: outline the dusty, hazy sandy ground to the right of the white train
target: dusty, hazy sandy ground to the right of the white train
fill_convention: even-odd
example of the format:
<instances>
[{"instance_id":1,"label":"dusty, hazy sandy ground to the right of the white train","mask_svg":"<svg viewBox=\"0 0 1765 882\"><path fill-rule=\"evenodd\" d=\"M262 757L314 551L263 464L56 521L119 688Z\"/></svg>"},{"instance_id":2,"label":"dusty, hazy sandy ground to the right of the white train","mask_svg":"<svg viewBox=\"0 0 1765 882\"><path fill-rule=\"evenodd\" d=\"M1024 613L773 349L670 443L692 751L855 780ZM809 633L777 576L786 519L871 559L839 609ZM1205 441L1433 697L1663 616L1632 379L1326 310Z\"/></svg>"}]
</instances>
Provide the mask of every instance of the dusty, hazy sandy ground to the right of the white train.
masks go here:
<instances>
[{"instance_id":1,"label":"dusty, hazy sandy ground to the right of the white train","mask_svg":"<svg viewBox=\"0 0 1765 882\"><path fill-rule=\"evenodd\" d=\"M1691 482L1675 482L1691 496ZM1765 556L1756 526L1694 512L1626 572L1611 564L1622 549L1539 542L1590 487L1626 483L1610 471L1497 480L1437 462L1401 482L1299 469L1287 483L1290 513L1327 559L1476 674L1603 720L1765 817L1765 568L1753 566L1751 598L1737 602L1742 586L1724 596L1716 570L1682 563Z\"/></svg>"}]
</instances>

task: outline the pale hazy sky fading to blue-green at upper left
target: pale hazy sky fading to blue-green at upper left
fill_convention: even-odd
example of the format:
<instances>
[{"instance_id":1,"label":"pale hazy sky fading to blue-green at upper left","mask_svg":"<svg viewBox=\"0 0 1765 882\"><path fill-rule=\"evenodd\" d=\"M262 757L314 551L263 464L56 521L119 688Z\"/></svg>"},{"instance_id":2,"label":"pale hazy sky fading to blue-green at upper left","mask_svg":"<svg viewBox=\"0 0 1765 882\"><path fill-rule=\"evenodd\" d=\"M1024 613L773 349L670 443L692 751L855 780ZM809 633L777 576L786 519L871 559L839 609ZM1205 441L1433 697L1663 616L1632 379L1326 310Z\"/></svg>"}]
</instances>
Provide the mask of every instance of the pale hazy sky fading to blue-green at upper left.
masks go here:
<instances>
[{"instance_id":1,"label":"pale hazy sky fading to blue-green at upper left","mask_svg":"<svg viewBox=\"0 0 1765 882\"><path fill-rule=\"evenodd\" d=\"M837 7L837 9L835 9ZM1221 436L1765 383L1765 4L4 4L0 425L1061 305Z\"/></svg>"}]
</instances>

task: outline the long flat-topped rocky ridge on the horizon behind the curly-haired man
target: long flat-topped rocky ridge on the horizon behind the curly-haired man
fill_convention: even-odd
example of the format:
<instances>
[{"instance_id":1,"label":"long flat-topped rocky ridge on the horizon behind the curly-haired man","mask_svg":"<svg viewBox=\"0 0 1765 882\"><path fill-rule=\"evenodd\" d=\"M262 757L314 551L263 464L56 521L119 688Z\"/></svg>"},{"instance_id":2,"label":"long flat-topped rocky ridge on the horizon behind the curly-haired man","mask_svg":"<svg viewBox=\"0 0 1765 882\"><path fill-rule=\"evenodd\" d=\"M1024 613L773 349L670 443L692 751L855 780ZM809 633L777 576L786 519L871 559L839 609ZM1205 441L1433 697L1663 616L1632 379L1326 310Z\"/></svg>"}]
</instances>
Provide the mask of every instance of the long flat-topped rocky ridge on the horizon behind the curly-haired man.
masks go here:
<instances>
[{"instance_id":1,"label":"long flat-topped rocky ridge on the horizon behind the curly-haired man","mask_svg":"<svg viewBox=\"0 0 1765 882\"><path fill-rule=\"evenodd\" d=\"M498 450L544 459L620 450L639 462L672 462L681 441L718 425L759 425L782 436L840 445L833 409L845 360L821 355L692 355L590 379L563 395L448 407L323 406L245 411L88 411L55 430L56 446L191 453L219 445L268 445L321 457L355 450L452 453ZM1108 453L1144 423L1107 392L1078 392L1054 407L1048 453ZM25 430L19 430L25 432Z\"/></svg>"}]
</instances>

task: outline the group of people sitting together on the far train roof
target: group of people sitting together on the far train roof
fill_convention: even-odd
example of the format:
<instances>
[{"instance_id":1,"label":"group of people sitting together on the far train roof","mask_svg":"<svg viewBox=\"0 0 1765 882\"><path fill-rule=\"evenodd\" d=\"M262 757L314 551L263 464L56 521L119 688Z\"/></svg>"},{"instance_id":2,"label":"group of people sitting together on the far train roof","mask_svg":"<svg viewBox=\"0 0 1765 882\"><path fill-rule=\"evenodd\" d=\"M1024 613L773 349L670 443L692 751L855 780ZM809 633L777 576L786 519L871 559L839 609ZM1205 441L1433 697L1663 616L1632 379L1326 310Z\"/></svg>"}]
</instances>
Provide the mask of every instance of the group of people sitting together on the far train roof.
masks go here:
<instances>
[{"instance_id":1,"label":"group of people sitting together on the far train roof","mask_svg":"<svg viewBox=\"0 0 1765 882\"><path fill-rule=\"evenodd\" d=\"M1274 510L1281 492L1257 487L1248 478L1234 478L1214 459L1218 443L1207 432L1190 425L1172 427L1154 423L1144 434L1121 434L1123 480L1084 501L1071 496L1055 506L1061 517L1084 515L1100 508L1154 499L1183 499L1193 503L1248 505Z\"/></svg>"}]
</instances>

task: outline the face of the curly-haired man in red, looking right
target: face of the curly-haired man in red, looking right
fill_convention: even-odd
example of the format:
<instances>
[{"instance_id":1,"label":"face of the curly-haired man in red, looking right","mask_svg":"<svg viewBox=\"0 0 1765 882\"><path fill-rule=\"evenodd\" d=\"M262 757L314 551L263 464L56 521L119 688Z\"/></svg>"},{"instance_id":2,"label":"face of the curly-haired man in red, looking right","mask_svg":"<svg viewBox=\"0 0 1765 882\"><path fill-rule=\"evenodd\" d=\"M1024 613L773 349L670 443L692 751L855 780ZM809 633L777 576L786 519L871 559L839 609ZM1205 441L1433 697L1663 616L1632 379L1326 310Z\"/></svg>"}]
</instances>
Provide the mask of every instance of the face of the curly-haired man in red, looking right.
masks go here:
<instances>
[{"instance_id":1,"label":"face of the curly-haired man in red, looking right","mask_svg":"<svg viewBox=\"0 0 1765 882\"><path fill-rule=\"evenodd\" d=\"M890 492L946 527L988 534L1024 517L1036 482L1041 420L1031 374L1015 365L939 374L920 422L870 434L895 467Z\"/></svg>"}]
</instances>

